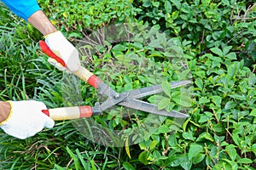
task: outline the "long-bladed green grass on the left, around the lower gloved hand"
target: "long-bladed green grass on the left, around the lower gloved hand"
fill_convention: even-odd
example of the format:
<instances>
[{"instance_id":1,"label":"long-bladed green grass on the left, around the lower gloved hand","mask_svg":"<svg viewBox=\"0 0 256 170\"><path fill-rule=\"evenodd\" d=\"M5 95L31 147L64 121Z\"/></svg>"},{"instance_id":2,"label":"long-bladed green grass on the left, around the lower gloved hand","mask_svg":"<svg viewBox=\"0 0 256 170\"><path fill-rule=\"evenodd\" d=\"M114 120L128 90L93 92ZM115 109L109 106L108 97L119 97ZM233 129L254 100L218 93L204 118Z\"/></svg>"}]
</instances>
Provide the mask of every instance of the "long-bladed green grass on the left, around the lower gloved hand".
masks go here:
<instances>
[{"instance_id":1,"label":"long-bladed green grass on the left, around the lower gloved hand","mask_svg":"<svg viewBox=\"0 0 256 170\"><path fill-rule=\"evenodd\" d=\"M37 99L49 108L63 106L62 72L49 65L40 52L42 35L3 3L0 13L0 99ZM122 149L90 143L72 122L55 122L52 129L25 140L0 131L0 169L119 168L122 153Z\"/></svg>"}]
</instances>

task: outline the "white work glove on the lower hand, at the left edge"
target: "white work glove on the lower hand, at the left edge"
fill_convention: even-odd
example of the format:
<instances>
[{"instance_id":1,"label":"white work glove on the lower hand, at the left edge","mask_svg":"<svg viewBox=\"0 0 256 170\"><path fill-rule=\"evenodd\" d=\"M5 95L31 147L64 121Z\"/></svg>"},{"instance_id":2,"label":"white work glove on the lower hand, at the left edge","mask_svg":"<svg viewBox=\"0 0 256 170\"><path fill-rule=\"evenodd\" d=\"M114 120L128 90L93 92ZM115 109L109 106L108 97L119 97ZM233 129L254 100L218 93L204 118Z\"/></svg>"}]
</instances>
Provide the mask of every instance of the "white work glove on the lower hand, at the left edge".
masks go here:
<instances>
[{"instance_id":1,"label":"white work glove on the lower hand, at the left edge","mask_svg":"<svg viewBox=\"0 0 256 170\"><path fill-rule=\"evenodd\" d=\"M9 101L9 117L0 126L5 133L18 139L26 139L40 132L44 127L54 127L55 122L44 115L46 106L35 100Z\"/></svg>"}]
</instances>

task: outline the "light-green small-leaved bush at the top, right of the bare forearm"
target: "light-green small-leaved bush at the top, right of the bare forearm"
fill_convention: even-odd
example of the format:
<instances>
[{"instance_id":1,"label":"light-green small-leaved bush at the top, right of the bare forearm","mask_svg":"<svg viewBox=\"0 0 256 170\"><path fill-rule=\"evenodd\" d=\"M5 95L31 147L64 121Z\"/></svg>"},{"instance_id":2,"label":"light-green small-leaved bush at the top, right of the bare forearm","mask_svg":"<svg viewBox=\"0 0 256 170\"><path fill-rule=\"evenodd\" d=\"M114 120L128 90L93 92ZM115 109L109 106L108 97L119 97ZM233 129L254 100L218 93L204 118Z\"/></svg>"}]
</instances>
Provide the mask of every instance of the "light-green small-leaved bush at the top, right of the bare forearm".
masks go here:
<instances>
[{"instance_id":1,"label":"light-green small-leaved bush at the top, right of the bare forearm","mask_svg":"<svg viewBox=\"0 0 256 170\"><path fill-rule=\"evenodd\" d=\"M68 37L81 38L102 26L133 22L139 11L131 0L39 1L52 23Z\"/></svg>"}]
</instances>

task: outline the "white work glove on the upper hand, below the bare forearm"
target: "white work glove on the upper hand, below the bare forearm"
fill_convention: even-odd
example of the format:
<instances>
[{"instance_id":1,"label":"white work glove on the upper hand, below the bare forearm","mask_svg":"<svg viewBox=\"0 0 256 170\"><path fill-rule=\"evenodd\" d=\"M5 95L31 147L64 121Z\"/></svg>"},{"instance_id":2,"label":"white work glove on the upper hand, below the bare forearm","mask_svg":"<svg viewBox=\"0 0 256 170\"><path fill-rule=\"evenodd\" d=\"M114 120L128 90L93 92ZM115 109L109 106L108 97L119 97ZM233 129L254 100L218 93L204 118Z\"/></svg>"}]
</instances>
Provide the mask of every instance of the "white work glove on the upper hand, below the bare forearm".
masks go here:
<instances>
[{"instance_id":1,"label":"white work glove on the upper hand, below the bare forearm","mask_svg":"<svg viewBox=\"0 0 256 170\"><path fill-rule=\"evenodd\" d=\"M78 71L80 60L79 51L70 42L67 41L66 37L63 36L61 31L55 31L44 36L45 42L49 49L58 57L64 60L67 68L58 63L55 59L49 58L48 61L51 65L55 65L60 71ZM68 72L68 71L67 71Z\"/></svg>"}]
</instances>

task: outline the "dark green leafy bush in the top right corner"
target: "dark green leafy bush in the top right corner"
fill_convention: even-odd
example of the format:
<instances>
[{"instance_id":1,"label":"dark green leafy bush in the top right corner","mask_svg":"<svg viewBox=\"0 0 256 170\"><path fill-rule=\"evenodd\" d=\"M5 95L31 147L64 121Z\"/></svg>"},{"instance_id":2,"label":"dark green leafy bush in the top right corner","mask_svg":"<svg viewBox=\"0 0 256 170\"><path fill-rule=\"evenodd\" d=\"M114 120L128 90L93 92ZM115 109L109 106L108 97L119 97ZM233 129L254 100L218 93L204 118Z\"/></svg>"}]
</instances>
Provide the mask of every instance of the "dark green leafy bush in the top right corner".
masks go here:
<instances>
[{"instance_id":1,"label":"dark green leafy bush in the top right corner","mask_svg":"<svg viewBox=\"0 0 256 170\"><path fill-rule=\"evenodd\" d=\"M253 1L137 1L138 20L159 25L170 36L191 44L195 54L232 46L239 59L255 61L255 4Z\"/></svg>"}]
</instances>

